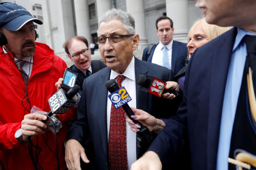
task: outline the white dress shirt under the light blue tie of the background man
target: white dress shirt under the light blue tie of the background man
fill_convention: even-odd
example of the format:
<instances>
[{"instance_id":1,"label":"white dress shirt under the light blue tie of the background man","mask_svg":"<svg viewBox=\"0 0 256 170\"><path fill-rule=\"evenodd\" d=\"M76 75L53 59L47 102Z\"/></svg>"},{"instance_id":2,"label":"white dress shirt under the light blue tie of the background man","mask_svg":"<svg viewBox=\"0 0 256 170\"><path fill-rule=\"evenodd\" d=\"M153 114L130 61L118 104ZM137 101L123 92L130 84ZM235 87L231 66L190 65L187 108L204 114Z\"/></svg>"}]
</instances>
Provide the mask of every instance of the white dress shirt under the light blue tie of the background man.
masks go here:
<instances>
[{"instance_id":1,"label":"white dress shirt under the light blue tie of the background man","mask_svg":"<svg viewBox=\"0 0 256 170\"><path fill-rule=\"evenodd\" d=\"M169 60L169 69L172 69L172 43L173 40L166 45L166 50L168 52L168 60ZM152 56L151 63L155 63L158 65L163 66L163 50L164 50L164 44L159 41L159 44L157 44L154 54Z\"/></svg>"}]
</instances>

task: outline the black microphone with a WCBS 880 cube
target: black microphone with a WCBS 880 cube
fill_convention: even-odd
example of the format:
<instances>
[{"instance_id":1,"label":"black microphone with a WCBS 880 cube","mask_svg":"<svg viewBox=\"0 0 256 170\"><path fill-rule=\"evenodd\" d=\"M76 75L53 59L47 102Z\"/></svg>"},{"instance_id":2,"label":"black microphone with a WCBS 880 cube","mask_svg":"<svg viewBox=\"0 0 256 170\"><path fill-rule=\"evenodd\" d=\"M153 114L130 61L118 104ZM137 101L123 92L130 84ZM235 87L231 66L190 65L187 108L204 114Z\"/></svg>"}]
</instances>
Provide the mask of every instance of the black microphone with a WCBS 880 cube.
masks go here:
<instances>
[{"instance_id":1,"label":"black microphone with a WCBS 880 cube","mask_svg":"<svg viewBox=\"0 0 256 170\"><path fill-rule=\"evenodd\" d=\"M68 92L62 88L59 89L48 99L51 111L48 112L47 115L51 117L53 114L64 114L67 112L70 107L76 104L76 102L72 100L72 97L74 97L79 90L79 85L74 85L68 90ZM46 120L41 121L45 122Z\"/></svg>"}]
</instances>

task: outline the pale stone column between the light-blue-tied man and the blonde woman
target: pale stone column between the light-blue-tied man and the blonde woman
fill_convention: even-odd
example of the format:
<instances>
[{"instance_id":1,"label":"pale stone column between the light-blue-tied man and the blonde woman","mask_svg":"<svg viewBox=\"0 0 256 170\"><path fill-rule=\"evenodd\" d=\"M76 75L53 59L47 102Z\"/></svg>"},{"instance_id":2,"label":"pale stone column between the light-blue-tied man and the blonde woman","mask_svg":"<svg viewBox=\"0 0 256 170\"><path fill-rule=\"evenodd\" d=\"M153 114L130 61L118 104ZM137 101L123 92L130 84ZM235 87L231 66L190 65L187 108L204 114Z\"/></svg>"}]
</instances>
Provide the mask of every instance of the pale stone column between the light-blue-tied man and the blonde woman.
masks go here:
<instances>
[{"instance_id":1,"label":"pale stone column between the light-blue-tied man and the blonde woman","mask_svg":"<svg viewBox=\"0 0 256 170\"><path fill-rule=\"evenodd\" d=\"M173 39L188 42L188 0L165 0L166 16L173 21Z\"/></svg>"}]
</instances>

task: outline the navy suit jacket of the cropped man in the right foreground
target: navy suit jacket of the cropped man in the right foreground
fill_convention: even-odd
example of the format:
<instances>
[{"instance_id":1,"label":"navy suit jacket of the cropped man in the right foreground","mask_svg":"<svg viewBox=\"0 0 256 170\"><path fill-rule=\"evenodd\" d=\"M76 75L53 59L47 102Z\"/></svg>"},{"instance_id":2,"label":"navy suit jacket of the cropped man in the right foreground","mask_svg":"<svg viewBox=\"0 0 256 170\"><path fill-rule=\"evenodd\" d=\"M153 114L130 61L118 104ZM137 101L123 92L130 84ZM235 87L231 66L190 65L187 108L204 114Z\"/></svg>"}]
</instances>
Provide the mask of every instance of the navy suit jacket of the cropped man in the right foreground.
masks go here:
<instances>
[{"instance_id":1,"label":"navy suit jacket of the cropped man in the right foreground","mask_svg":"<svg viewBox=\"0 0 256 170\"><path fill-rule=\"evenodd\" d=\"M177 116L149 148L159 155L164 167L189 156L188 169L216 169L222 105L236 34L233 28L193 53Z\"/></svg>"}]
</instances>

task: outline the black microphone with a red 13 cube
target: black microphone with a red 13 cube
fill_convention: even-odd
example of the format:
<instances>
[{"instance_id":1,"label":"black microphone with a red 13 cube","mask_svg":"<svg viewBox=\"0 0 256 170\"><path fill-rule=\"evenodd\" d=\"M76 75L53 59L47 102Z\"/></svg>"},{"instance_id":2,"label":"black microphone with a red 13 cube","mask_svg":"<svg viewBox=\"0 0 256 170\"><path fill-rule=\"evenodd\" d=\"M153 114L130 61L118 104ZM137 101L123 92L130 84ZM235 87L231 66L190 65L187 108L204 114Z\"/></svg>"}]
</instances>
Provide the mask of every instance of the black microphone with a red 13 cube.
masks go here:
<instances>
[{"instance_id":1,"label":"black microphone with a red 13 cube","mask_svg":"<svg viewBox=\"0 0 256 170\"><path fill-rule=\"evenodd\" d=\"M166 83L155 77L139 75L136 78L136 84L141 86L140 90L149 92L158 97L161 97L161 95L164 93L174 94L176 97L179 95L179 93L174 89L164 89Z\"/></svg>"}]
</instances>

